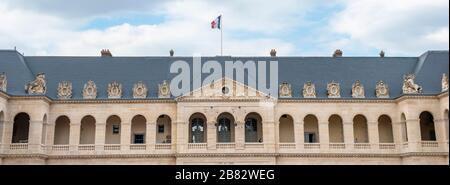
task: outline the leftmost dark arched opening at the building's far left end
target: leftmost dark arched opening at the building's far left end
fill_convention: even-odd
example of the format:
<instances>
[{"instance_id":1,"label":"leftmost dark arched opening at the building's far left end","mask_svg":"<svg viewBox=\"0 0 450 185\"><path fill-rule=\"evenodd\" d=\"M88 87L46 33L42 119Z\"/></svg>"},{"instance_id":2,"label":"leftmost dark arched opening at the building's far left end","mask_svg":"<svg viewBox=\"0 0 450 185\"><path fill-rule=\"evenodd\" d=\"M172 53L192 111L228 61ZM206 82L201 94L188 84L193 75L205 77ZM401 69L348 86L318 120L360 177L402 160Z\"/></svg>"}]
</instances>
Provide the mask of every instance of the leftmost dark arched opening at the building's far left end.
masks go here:
<instances>
[{"instance_id":1,"label":"leftmost dark arched opening at the building's far left end","mask_svg":"<svg viewBox=\"0 0 450 185\"><path fill-rule=\"evenodd\" d=\"M30 129L30 116L27 113L19 113L14 117L13 136L11 143L28 143Z\"/></svg>"}]
</instances>

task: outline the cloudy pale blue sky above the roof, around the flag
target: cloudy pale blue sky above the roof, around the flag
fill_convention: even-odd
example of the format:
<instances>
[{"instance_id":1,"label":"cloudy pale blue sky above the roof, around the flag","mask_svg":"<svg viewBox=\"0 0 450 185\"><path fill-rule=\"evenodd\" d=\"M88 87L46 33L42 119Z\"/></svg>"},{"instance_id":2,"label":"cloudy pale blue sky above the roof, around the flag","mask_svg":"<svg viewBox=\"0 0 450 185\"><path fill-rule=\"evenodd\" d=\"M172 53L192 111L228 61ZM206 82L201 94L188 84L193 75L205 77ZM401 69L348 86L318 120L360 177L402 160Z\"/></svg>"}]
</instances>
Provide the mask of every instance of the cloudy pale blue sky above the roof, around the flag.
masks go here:
<instances>
[{"instance_id":1,"label":"cloudy pale blue sky above the roof, around the flag","mask_svg":"<svg viewBox=\"0 0 450 185\"><path fill-rule=\"evenodd\" d=\"M25 55L418 56L449 49L448 0L0 0L0 49Z\"/></svg>"}]
</instances>

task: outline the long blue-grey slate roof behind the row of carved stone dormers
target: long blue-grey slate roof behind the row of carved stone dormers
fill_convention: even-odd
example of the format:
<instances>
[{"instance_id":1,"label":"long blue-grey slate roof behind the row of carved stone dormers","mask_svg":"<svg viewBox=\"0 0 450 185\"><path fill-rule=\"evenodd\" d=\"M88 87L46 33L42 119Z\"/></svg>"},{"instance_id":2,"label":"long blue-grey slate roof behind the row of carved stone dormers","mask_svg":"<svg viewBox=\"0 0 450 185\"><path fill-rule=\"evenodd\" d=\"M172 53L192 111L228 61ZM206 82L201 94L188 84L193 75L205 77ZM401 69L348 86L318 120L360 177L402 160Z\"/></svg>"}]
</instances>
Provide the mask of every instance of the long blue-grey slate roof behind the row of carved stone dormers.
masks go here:
<instances>
[{"instance_id":1,"label":"long blue-grey slate roof behind the row of carved stone dormers","mask_svg":"<svg viewBox=\"0 0 450 185\"><path fill-rule=\"evenodd\" d=\"M45 73L47 96L57 99L60 81L73 85L73 99L82 99L82 89L88 80L98 88L98 99L107 98L107 84L118 81L123 86L123 99L132 99L133 84L143 81L149 89L148 98L157 98L158 84L170 80L172 62L184 60L192 64L192 57L59 57L22 56L14 50L0 50L0 72L6 72L7 93L27 96L24 85ZM203 57L202 62L224 61L278 61L279 83L288 82L293 98L302 98L303 84L312 81L318 98L327 98L326 86L334 80L341 85L341 97L351 98L351 86L360 80L366 99L374 99L375 85L383 80L390 88L390 97L402 94L403 75L416 72L416 83L423 86L425 95L441 92L442 73L449 71L448 51L428 51L419 57ZM224 72L223 72L224 74ZM203 74L204 79L208 74ZM247 81L247 79L245 79ZM191 82L192 83L192 82Z\"/></svg>"}]
</instances>

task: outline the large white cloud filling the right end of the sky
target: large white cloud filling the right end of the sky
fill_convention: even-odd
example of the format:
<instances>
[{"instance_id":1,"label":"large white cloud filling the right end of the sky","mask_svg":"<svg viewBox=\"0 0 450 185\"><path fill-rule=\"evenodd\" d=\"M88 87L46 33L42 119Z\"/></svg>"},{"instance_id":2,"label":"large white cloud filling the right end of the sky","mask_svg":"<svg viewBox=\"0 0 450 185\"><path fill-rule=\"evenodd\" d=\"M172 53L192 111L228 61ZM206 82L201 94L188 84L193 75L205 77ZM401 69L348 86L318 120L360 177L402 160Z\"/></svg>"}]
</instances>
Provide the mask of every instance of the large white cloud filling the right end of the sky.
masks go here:
<instances>
[{"instance_id":1,"label":"large white cloud filling the right end of the sky","mask_svg":"<svg viewBox=\"0 0 450 185\"><path fill-rule=\"evenodd\" d=\"M448 50L448 12L448 0L347 1L330 27L348 37L341 47L352 52L373 48L418 56L430 49Z\"/></svg>"}]
</instances>

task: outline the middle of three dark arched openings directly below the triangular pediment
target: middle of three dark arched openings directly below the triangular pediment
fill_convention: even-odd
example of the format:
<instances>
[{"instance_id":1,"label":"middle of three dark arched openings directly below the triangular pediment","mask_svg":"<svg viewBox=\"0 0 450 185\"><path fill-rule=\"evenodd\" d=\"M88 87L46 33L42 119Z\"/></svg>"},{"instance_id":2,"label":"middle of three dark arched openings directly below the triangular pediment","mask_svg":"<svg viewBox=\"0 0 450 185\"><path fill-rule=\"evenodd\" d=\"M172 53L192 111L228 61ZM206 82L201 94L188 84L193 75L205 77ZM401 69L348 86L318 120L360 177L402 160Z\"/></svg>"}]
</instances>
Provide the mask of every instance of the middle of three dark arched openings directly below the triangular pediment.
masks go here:
<instances>
[{"instance_id":1,"label":"middle of three dark arched openings directly below the triangular pediment","mask_svg":"<svg viewBox=\"0 0 450 185\"><path fill-rule=\"evenodd\" d=\"M234 142L234 117L230 113L222 113L217 117L217 142Z\"/></svg>"}]
</instances>

